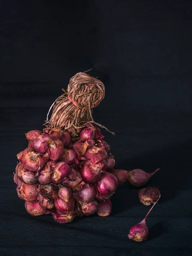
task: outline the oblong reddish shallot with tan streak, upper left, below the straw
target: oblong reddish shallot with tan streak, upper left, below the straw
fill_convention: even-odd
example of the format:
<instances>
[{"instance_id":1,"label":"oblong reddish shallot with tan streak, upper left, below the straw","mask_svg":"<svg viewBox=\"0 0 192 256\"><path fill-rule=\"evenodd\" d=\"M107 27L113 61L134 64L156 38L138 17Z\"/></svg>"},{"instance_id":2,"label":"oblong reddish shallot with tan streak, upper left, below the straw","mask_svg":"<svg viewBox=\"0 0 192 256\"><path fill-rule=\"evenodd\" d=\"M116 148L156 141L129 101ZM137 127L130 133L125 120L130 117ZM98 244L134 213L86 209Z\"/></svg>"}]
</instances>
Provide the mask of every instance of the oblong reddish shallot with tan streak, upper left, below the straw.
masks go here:
<instances>
[{"instance_id":1,"label":"oblong reddish shallot with tan streak, upper left, below the straw","mask_svg":"<svg viewBox=\"0 0 192 256\"><path fill-rule=\"evenodd\" d=\"M64 151L64 145L61 142L61 140L50 140L48 143L48 149L47 153L49 154L49 157L53 161L57 161L61 158Z\"/></svg>"}]
</instances>

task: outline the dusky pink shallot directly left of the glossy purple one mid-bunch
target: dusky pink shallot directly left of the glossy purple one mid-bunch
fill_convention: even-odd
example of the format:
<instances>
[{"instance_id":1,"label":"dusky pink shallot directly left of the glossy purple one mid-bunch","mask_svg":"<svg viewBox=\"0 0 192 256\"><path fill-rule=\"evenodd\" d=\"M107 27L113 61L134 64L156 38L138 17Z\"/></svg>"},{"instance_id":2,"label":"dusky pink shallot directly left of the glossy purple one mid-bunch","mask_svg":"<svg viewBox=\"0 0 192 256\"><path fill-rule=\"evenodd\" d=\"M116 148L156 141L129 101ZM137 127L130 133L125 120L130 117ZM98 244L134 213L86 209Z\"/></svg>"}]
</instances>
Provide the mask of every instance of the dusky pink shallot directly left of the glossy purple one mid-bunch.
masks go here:
<instances>
[{"instance_id":1,"label":"dusky pink shallot directly left of the glossy purple one mid-bunch","mask_svg":"<svg viewBox=\"0 0 192 256\"><path fill-rule=\"evenodd\" d=\"M52 182L52 173L54 171L55 165L57 164L56 161L49 160L43 169L39 171L38 182L40 184L49 184Z\"/></svg>"}]
</instances>

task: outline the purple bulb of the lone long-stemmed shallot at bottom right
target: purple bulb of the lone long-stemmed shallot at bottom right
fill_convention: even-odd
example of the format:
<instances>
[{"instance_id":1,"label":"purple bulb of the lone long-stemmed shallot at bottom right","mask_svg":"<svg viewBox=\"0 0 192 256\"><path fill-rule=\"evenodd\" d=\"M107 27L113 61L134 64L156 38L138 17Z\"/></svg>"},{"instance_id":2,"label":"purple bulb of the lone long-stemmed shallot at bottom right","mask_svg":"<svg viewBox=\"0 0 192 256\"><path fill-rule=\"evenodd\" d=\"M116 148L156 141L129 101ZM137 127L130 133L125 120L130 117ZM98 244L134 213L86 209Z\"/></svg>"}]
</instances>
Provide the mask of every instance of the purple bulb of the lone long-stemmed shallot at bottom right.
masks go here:
<instances>
[{"instance_id":1,"label":"purple bulb of the lone long-stemmed shallot at bottom right","mask_svg":"<svg viewBox=\"0 0 192 256\"><path fill-rule=\"evenodd\" d=\"M145 220L131 227L128 238L137 242L145 241L148 238L148 227Z\"/></svg>"}]
</instances>

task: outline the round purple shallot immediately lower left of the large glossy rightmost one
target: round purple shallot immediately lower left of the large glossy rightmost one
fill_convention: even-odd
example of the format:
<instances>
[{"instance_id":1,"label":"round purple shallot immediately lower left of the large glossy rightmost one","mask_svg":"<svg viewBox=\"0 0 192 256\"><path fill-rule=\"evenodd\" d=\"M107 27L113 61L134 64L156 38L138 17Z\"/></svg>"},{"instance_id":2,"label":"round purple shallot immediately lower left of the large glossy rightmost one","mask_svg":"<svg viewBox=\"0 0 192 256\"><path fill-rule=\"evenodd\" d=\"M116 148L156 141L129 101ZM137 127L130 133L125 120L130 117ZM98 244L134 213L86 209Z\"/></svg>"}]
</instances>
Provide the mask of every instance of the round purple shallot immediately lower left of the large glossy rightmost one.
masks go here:
<instances>
[{"instance_id":1,"label":"round purple shallot immediately lower left of the large glossy rightmost one","mask_svg":"<svg viewBox=\"0 0 192 256\"><path fill-rule=\"evenodd\" d=\"M85 203L88 203L90 201L93 201L96 198L97 191L96 187L92 183L86 183L83 185L83 188L73 194L73 197L76 199L76 201L80 202L83 201Z\"/></svg>"}]
</instances>

